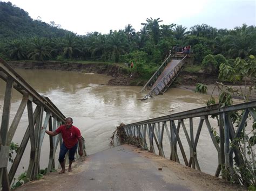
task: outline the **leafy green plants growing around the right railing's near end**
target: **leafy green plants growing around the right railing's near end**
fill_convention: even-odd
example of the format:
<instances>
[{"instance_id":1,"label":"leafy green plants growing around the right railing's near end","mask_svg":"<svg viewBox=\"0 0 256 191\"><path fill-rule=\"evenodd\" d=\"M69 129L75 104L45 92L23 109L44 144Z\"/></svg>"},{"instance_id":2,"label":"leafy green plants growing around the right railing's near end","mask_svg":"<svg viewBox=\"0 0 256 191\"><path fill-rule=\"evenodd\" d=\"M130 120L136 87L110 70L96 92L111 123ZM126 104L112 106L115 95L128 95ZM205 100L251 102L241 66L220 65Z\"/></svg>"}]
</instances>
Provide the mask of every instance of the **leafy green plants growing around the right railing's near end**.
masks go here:
<instances>
[{"instance_id":1,"label":"leafy green plants growing around the right railing's near end","mask_svg":"<svg viewBox=\"0 0 256 191\"><path fill-rule=\"evenodd\" d=\"M205 58L204 61L207 60L208 63L211 64L211 68L214 71L218 66L219 81L236 83L240 86L240 89L234 89L232 86L227 86L224 83L216 82L215 88L219 90L218 101L216 101L215 98L211 95L207 102L207 106L216 103L220 104L221 107L230 106L233 104L232 97L234 94L241 97L244 102L249 102L252 90L256 89L255 83L253 83L253 81L256 79L256 58L253 55L250 55L247 60L237 58L233 62L229 63L227 60L225 60L225 58L221 56L218 56L219 59L217 59L217 61L215 60L217 57L214 58L212 55L206 57L207 58ZM221 62L220 65L218 60ZM206 94L207 86L205 84L198 83L196 92ZM239 132L238 127L240 124L242 124L242 120L244 120L243 116L245 113L246 110L242 112L231 112L229 114L232 122L235 124L235 129L237 129L237 137L232 138L230 145L232 149L239 152L237 152L238 154L234 158L235 162L233 168L225 167L225 165L222 167L225 172L225 174L222 176L223 178L232 182L248 187L248 190L255 190L256 111L255 109L251 109L251 113L248 114L249 117L246 119L245 126L241 129L241 132ZM218 118L218 116L212 117ZM217 131L213 131L218 142L220 137Z\"/></svg>"}]
</instances>

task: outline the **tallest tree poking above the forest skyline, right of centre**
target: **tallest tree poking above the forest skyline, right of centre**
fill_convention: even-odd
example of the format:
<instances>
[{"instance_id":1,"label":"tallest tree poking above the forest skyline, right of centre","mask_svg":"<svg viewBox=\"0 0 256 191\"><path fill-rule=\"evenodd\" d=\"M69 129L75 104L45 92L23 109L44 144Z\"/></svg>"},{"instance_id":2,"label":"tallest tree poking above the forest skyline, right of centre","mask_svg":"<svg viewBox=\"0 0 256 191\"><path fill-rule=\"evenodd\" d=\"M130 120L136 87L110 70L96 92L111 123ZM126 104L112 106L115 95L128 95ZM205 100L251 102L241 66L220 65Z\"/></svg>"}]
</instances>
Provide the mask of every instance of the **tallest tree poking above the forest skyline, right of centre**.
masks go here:
<instances>
[{"instance_id":1,"label":"tallest tree poking above the forest skyline, right of centre","mask_svg":"<svg viewBox=\"0 0 256 191\"><path fill-rule=\"evenodd\" d=\"M147 18L146 22L147 23L142 23L146 27L146 30L149 31L149 33L152 35L152 38L154 40L154 44L157 44L158 41L160 40L160 26L159 23L163 22L163 20L159 20L160 18L157 19L152 19L152 17Z\"/></svg>"}]
</instances>

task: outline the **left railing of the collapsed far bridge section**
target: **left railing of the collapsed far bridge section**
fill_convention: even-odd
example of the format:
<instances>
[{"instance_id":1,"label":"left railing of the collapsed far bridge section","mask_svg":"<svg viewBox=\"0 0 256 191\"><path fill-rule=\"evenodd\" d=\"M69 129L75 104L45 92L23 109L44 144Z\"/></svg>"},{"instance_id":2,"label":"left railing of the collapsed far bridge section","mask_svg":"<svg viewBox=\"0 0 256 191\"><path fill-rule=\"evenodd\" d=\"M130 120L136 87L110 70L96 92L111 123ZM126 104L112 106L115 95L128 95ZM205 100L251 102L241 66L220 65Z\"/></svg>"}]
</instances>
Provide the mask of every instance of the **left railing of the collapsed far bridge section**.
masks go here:
<instances>
[{"instance_id":1,"label":"left railing of the collapsed far bridge section","mask_svg":"<svg viewBox=\"0 0 256 191\"><path fill-rule=\"evenodd\" d=\"M143 88L140 90L140 92L143 92L147 89L149 89L149 87L152 87L154 82L156 82L156 80L158 79L158 77L161 75L161 73L163 72L165 66L170 62L171 60L171 51L169 56L167 56L167 58L163 61L163 63L161 63L161 65L159 66L159 68L157 69L157 71L150 77L149 81L147 81L147 83L143 86Z\"/></svg>"}]
</instances>

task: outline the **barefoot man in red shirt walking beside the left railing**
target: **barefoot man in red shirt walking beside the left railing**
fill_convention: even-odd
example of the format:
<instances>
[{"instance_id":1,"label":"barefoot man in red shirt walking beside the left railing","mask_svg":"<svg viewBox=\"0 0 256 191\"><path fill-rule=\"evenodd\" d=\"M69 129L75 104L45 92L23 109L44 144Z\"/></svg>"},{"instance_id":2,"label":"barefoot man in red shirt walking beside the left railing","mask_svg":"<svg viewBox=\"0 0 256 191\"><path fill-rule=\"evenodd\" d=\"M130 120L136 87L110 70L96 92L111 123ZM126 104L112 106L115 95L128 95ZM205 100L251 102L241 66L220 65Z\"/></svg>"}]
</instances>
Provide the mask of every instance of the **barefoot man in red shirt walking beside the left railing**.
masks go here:
<instances>
[{"instance_id":1,"label":"barefoot man in red shirt walking beside the left railing","mask_svg":"<svg viewBox=\"0 0 256 191\"><path fill-rule=\"evenodd\" d=\"M60 146L59 150L59 163L62 166L62 171L59 173L65 173L65 155L66 152L69 151L69 172L72 171L71 165L73 160L75 159L75 153L77 150L77 142L79 142L79 155L83 155L83 146L82 146L82 136L80 130L76 128L73 124L73 119L71 117L67 117L65 120L65 125L59 126L56 131L45 131L50 136L56 136L59 133L62 133L63 143Z\"/></svg>"}]
</instances>

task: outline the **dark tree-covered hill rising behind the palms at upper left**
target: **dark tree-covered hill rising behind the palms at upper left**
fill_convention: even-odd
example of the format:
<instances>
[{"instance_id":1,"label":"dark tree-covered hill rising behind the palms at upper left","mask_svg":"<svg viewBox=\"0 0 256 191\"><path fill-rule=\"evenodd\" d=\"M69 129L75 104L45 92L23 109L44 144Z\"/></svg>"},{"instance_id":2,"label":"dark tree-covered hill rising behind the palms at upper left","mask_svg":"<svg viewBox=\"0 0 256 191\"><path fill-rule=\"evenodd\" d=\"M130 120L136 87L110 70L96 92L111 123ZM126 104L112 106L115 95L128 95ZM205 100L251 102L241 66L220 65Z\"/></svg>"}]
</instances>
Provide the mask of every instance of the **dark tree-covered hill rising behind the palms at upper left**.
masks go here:
<instances>
[{"instance_id":1,"label":"dark tree-covered hill rising behind the palms at upper left","mask_svg":"<svg viewBox=\"0 0 256 191\"><path fill-rule=\"evenodd\" d=\"M29 13L10 2L0 2L0 40L31 37L64 37L69 31L33 20Z\"/></svg>"}]
</instances>

